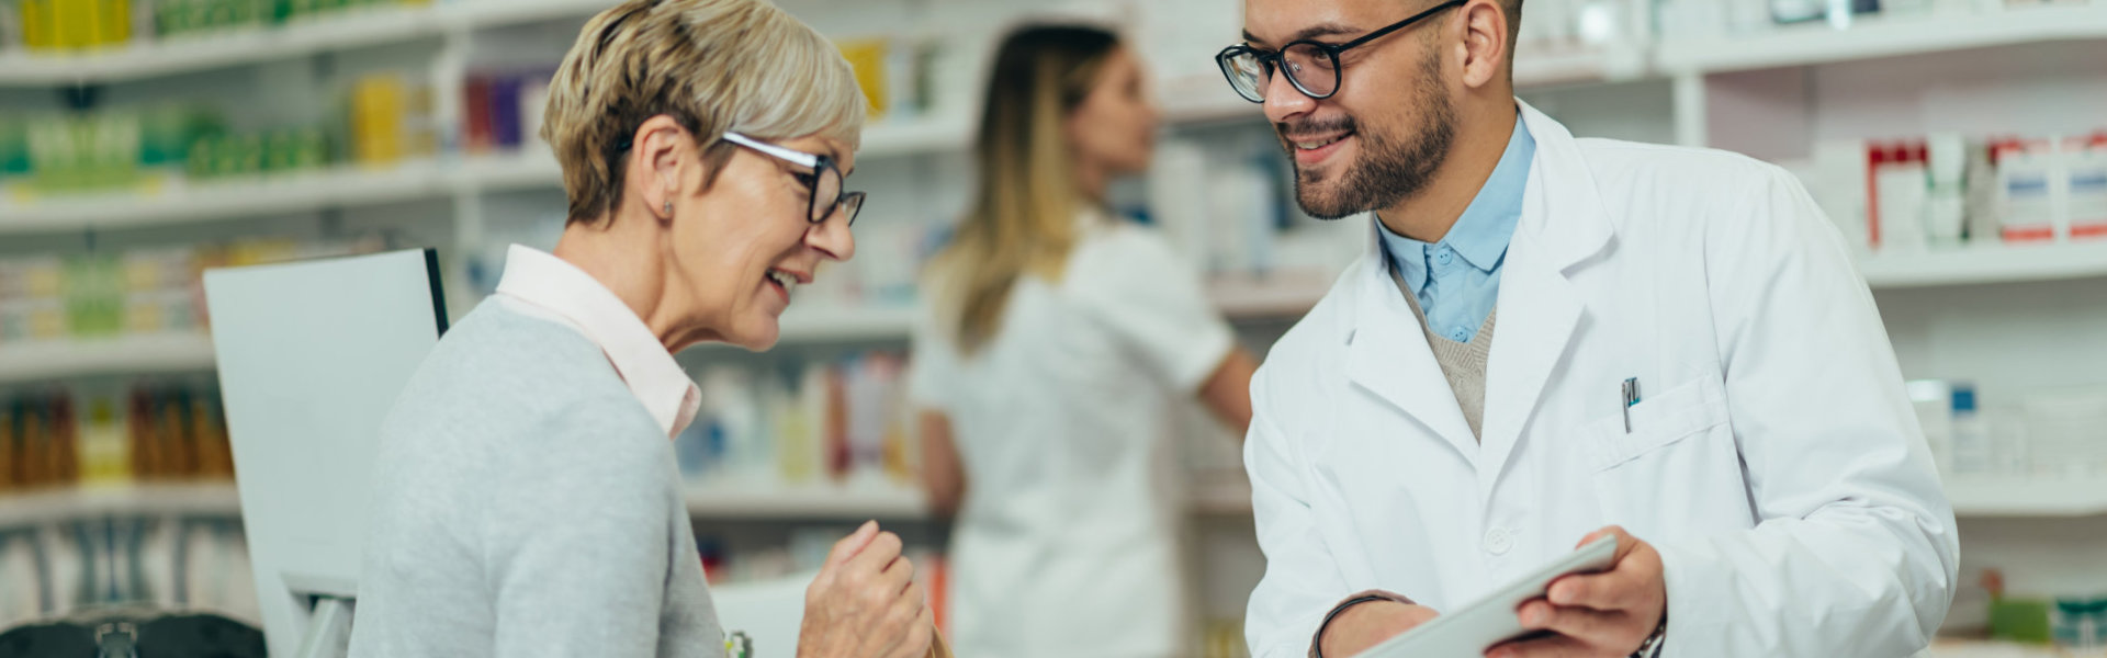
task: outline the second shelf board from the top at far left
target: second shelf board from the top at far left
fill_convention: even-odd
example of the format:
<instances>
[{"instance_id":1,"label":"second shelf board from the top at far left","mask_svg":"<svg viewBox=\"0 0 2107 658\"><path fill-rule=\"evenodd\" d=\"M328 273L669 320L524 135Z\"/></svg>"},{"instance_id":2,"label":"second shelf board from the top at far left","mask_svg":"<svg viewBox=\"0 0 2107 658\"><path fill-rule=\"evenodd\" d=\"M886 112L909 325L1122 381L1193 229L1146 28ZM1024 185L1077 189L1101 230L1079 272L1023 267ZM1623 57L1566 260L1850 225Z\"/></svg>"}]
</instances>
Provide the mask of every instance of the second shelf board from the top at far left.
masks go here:
<instances>
[{"instance_id":1,"label":"second shelf board from the top at far left","mask_svg":"<svg viewBox=\"0 0 2107 658\"><path fill-rule=\"evenodd\" d=\"M327 169L230 181L166 183L139 194L51 196L0 205L0 234L107 230L308 213L432 198L453 190L438 162Z\"/></svg>"}]
</instances>

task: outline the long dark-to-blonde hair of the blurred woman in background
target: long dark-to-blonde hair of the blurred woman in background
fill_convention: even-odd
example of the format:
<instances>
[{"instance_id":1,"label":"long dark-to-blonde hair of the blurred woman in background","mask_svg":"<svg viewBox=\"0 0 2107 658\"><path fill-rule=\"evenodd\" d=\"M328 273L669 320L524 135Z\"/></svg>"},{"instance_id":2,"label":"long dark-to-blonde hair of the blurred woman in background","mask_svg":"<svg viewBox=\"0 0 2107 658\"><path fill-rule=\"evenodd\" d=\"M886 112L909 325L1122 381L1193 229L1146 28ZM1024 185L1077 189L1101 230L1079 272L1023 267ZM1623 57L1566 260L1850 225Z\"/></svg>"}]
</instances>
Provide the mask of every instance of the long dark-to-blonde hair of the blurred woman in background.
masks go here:
<instances>
[{"instance_id":1,"label":"long dark-to-blonde hair of the blurred woman in background","mask_svg":"<svg viewBox=\"0 0 2107 658\"><path fill-rule=\"evenodd\" d=\"M1081 25L1024 27L1003 40L976 143L980 192L936 259L961 352L995 337L1018 278L1060 280L1081 205L1062 124L1117 49L1115 34Z\"/></svg>"}]
</instances>

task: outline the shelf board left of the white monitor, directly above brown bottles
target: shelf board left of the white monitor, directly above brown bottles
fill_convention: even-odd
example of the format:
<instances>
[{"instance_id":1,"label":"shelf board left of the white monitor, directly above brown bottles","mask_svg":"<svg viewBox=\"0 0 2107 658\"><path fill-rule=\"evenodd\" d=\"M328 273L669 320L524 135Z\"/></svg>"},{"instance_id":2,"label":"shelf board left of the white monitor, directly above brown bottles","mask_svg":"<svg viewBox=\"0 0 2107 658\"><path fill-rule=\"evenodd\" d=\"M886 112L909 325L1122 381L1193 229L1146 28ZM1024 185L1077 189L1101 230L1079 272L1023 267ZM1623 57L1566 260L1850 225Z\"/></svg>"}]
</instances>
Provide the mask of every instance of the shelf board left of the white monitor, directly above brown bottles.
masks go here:
<instances>
[{"instance_id":1,"label":"shelf board left of the white monitor, directly above brown bottles","mask_svg":"<svg viewBox=\"0 0 2107 658\"><path fill-rule=\"evenodd\" d=\"M196 333L0 344L0 384L211 369L213 340Z\"/></svg>"}]
</instances>

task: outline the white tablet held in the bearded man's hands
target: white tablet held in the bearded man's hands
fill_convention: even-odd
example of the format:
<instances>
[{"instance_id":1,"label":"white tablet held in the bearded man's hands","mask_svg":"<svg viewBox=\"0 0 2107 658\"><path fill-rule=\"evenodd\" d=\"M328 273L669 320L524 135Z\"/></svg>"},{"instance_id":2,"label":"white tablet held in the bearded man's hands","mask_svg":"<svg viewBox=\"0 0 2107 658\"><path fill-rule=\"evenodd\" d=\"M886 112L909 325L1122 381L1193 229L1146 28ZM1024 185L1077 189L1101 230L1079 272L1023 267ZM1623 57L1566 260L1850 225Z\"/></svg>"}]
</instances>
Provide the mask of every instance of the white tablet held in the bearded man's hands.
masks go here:
<instances>
[{"instance_id":1,"label":"white tablet held in the bearded man's hands","mask_svg":"<svg viewBox=\"0 0 2107 658\"><path fill-rule=\"evenodd\" d=\"M1475 658L1496 643L1521 637L1521 603L1542 597L1553 580L1568 574L1610 569L1616 559L1616 538L1603 536L1580 546L1566 559L1549 563L1521 580L1509 582L1471 605L1441 612L1418 628L1355 654L1357 658Z\"/></svg>"}]
</instances>

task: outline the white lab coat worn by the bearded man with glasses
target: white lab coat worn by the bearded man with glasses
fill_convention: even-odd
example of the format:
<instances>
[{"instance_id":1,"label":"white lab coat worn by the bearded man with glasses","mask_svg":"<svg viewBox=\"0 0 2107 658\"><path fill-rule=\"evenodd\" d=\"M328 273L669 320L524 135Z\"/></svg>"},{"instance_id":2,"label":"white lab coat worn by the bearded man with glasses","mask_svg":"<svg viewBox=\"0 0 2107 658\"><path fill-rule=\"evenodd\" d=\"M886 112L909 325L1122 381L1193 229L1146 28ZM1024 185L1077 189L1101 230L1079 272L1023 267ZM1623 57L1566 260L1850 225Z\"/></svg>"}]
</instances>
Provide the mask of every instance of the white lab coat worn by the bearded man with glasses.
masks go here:
<instances>
[{"instance_id":1,"label":"white lab coat worn by the bearded man with glasses","mask_svg":"<svg viewBox=\"0 0 2107 658\"><path fill-rule=\"evenodd\" d=\"M1483 441L1374 245L1260 367L1252 654L1304 656L1363 588L1454 609L1612 523L1660 550L1665 656L1926 645L1953 508L1835 228L1778 167L1523 122Z\"/></svg>"}]
</instances>

